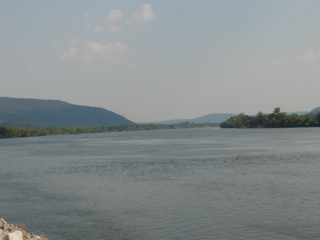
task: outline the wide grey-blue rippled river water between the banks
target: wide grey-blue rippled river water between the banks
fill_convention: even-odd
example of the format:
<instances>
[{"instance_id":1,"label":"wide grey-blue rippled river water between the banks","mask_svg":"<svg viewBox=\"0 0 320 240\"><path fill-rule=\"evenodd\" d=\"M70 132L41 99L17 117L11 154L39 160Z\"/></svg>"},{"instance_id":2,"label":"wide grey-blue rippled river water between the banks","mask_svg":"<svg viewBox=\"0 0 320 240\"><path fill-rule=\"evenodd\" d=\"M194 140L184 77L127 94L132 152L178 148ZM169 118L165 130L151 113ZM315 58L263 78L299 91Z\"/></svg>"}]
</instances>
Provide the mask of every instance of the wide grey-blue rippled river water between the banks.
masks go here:
<instances>
[{"instance_id":1,"label":"wide grey-blue rippled river water between the banks","mask_svg":"<svg viewBox=\"0 0 320 240\"><path fill-rule=\"evenodd\" d=\"M319 239L319 143L320 128L0 139L0 217L49 240Z\"/></svg>"}]
</instances>

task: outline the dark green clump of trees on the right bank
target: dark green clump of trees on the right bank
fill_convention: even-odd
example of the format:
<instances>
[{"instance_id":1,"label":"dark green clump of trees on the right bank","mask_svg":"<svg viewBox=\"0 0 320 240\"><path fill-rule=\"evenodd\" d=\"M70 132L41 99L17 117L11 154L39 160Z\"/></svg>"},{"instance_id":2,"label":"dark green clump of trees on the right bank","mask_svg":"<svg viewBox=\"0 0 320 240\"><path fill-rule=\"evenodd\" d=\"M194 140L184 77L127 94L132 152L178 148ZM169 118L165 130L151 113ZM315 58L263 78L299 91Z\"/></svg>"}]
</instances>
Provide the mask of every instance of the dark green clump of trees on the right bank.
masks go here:
<instances>
[{"instance_id":1,"label":"dark green clump of trees on the right bank","mask_svg":"<svg viewBox=\"0 0 320 240\"><path fill-rule=\"evenodd\" d=\"M256 116L239 113L231 116L219 124L221 128L274 128L274 127L312 127L320 126L320 112L304 115L281 112L280 107L275 107L272 113L263 114L261 111Z\"/></svg>"}]
</instances>

